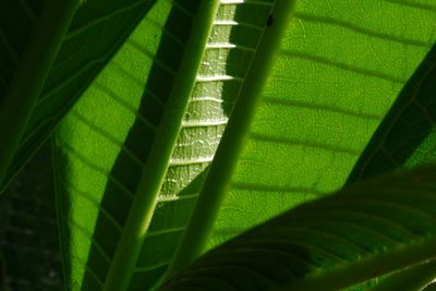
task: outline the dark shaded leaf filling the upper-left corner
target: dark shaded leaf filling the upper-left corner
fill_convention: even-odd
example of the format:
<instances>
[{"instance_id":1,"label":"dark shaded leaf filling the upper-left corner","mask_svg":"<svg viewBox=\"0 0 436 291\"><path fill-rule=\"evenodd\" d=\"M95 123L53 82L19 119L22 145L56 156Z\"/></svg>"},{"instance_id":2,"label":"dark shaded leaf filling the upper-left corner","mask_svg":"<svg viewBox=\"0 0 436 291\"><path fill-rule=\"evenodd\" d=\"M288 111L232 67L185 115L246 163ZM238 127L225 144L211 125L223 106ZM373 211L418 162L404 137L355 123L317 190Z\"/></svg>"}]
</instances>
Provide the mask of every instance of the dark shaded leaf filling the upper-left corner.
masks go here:
<instances>
[{"instance_id":1,"label":"dark shaded leaf filling the upper-left corner","mask_svg":"<svg viewBox=\"0 0 436 291\"><path fill-rule=\"evenodd\" d=\"M56 124L123 44L153 3L152 0L86 1L77 11L73 10L74 19L66 26L69 31L59 39L61 43L59 53L48 50L48 40L56 34L47 27L55 32L59 29L59 25L48 23L51 15L60 13L53 3L48 0L20 0L4 3L5 8L1 9L2 14L0 15L0 41L2 41L0 47L7 51L0 53L0 63L2 64L0 99L4 100L9 88L11 98L19 100L17 93L11 92L11 84L17 84L19 88L29 90L33 82L37 82L35 84L37 89L34 92L35 102L31 106L32 116L27 114L26 121L16 122L26 126L23 129L24 134L21 142L19 141L19 146L13 146L16 154L4 181L2 181L2 187L11 181L12 177L47 140ZM41 14L43 5L46 7L46 14ZM62 22L65 21L62 19ZM41 31L48 38L48 40L37 39L40 51L46 51L48 57L53 60L57 57L52 65L47 63L44 73L37 71L35 65L25 66L26 63L22 60L23 58L25 60L27 54L36 54L41 59L43 54L32 52L31 49L27 49L27 54L23 56L24 48L28 47L28 39L37 36L38 32L34 27L38 25L43 26ZM27 75L21 80L17 78L16 73L14 75L14 72L26 72ZM47 77L45 77L46 75ZM35 76L39 76L39 78ZM25 98L28 99L28 96L26 95ZM20 106L23 107L23 105L20 101ZM15 109L8 109L4 105L2 110L14 112L11 117L13 119L20 116ZM5 120L3 124L9 130L8 133L13 132L12 120Z\"/></svg>"}]
</instances>

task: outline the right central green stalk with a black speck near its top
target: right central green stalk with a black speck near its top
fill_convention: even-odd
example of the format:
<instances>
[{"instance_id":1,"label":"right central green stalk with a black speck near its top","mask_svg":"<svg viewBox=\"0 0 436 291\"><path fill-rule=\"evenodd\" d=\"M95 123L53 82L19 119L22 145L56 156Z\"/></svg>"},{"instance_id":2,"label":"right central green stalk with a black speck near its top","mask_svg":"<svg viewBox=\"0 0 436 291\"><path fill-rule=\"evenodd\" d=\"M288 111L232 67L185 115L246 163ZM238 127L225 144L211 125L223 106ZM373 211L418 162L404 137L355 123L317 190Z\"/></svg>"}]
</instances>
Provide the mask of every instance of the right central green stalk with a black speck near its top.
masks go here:
<instances>
[{"instance_id":1,"label":"right central green stalk with a black speck near its top","mask_svg":"<svg viewBox=\"0 0 436 291\"><path fill-rule=\"evenodd\" d=\"M274 22L265 27L257 45L197 204L165 279L186 267L204 252L219 208L228 192L238 158L247 138L250 124L279 51L280 40L289 23L293 5L293 0L277 0L274 5L272 19L270 19Z\"/></svg>"}]
</instances>

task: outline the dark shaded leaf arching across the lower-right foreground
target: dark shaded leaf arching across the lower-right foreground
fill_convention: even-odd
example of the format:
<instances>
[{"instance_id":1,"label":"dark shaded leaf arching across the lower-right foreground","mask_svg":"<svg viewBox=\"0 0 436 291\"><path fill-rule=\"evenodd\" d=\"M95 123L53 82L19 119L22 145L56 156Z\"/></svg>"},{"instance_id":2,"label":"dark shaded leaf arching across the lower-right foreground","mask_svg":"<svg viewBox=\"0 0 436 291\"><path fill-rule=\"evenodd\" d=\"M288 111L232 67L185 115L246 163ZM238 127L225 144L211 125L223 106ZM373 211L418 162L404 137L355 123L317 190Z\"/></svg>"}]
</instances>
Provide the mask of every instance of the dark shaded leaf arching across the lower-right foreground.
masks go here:
<instances>
[{"instance_id":1,"label":"dark shaded leaf arching across the lower-right foreground","mask_svg":"<svg viewBox=\"0 0 436 291\"><path fill-rule=\"evenodd\" d=\"M338 290L436 258L436 167L303 204L210 251L160 290Z\"/></svg>"}]
</instances>

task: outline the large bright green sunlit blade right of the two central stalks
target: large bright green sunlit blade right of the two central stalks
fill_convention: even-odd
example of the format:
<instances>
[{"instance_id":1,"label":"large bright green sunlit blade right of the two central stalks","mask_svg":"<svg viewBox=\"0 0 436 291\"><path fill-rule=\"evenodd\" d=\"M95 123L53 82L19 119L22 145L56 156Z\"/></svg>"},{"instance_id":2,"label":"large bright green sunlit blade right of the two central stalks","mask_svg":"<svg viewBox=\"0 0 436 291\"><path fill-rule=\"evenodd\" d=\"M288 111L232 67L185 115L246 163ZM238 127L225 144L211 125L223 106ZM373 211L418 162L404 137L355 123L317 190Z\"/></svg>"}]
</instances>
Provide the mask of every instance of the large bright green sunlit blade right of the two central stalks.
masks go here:
<instances>
[{"instance_id":1,"label":"large bright green sunlit blade right of the two central stalks","mask_svg":"<svg viewBox=\"0 0 436 291\"><path fill-rule=\"evenodd\" d=\"M413 5L295 5L210 246L339 189L435 39L436 14Z\"/></svg>"}]
</instances>

